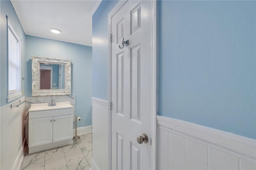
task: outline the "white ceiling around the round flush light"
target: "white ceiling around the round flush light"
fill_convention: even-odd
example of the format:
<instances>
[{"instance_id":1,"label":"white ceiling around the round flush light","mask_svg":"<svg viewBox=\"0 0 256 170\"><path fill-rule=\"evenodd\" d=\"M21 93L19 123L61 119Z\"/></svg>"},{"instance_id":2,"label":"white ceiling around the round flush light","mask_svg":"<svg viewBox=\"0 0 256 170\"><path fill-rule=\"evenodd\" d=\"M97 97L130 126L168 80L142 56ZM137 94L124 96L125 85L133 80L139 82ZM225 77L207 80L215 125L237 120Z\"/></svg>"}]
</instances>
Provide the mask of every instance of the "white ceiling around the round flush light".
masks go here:
<instances>
[{"instance_id":1,"label":"white ceiling around the round flush light","mask_svg":"<svg viewBox=\"0 0 256 170\"><path fill-rule=\"evenodd\" d=\"M11 0L26 35L92 46L92 14L101 0ZM54 34L50 28L61 31Z\"/></svg>"}]
</instances>

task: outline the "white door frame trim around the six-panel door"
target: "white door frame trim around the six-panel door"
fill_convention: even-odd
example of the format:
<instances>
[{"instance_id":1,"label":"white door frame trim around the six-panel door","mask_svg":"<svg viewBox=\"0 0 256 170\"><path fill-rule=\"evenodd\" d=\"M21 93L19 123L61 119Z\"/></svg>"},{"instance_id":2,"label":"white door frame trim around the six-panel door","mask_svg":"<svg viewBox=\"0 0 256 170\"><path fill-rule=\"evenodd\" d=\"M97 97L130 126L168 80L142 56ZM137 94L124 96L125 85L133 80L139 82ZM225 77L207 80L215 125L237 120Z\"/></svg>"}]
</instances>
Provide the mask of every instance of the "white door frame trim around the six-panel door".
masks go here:
<instances>
[{"instance_id":1,"label":"white door frame trim around the six-panel door","mask_svg":"<svg viewBox=\"0 0 256 170\"><path fill-rule=\"evenodd\" d=\"M111 99L111 67L112 67L112 43L110 39L111 34L111 24L112 24L112 17L116 12L118 12L122 6L127 2L128 0L120 0L116 6L111 10L111 12L108 14L108 169L111 169L111 110L110 110L110 102ZM157 53L157 46L156 46L156 0L152 0L152 8L151 8L151 14L152 14L152 25L151 25L151 169L156 169L156 113L157 113L157 89L158 89L158 53Z\"/></svg>"}]
</instances>

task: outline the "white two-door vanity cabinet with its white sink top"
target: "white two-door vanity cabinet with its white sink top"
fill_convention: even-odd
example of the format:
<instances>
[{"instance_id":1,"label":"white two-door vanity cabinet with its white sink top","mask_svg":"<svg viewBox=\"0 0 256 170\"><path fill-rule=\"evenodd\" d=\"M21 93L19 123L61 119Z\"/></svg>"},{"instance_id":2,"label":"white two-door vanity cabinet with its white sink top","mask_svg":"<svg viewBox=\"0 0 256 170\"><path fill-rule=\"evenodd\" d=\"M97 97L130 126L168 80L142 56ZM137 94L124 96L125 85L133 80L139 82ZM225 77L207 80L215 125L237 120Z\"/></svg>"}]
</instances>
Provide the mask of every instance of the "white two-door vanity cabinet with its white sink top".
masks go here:
<instances>
[{"instance_id":1,"label":"white two-door vanity cabinet with its white sink top","mask_svg":"<svg viewBox=\"0 0 256 170\"><path fill-rule=\"evenodd\" d=\"M34 153L73 142L73 106L69 102L31 104L28 121L28 148Z\"/></svg>"}]
</instances>

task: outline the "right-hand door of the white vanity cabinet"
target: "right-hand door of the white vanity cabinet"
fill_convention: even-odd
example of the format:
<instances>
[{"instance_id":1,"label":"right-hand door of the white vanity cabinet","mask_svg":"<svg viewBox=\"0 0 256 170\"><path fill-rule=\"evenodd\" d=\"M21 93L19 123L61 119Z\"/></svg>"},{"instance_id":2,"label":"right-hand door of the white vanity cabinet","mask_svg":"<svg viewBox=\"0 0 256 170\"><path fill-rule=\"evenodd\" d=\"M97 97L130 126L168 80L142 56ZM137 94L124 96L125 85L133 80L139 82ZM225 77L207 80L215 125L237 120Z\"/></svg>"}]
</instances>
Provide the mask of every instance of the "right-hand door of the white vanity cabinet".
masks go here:
<instances>
[{"instance_id":1,"label":"right-hand door of the white vanity cabinet","mask_svg":"<svg viewBox=\"0 0 256 170\"><path fill-rule=\"evenodd\" d=\"M73 115L53 117L53 142L73 138Z\"/></svg>"}]
</instances>

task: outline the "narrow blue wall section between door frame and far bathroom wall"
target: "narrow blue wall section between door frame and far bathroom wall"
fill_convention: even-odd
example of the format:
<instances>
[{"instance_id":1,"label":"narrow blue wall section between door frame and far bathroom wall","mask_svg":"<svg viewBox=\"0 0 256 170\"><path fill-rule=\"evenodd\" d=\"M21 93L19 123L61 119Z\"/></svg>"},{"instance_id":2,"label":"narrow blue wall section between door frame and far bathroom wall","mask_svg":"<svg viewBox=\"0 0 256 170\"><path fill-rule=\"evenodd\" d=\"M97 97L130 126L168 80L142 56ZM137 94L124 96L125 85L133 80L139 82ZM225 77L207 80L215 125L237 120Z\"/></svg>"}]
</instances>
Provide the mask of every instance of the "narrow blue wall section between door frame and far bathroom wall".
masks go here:
<instances>
[{"instance_id":1,"label":"narrow blue wall section between door frame and far bathroom wall","mask_svg":"<svg viewBox=\"0 0 256 170\"><path fill-rule=\"evenodd\" d=\"M92 16L92 97L108 100L108 13L116 0L103 0Z\"/></svg>"}]
</instances>

